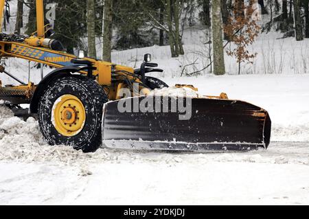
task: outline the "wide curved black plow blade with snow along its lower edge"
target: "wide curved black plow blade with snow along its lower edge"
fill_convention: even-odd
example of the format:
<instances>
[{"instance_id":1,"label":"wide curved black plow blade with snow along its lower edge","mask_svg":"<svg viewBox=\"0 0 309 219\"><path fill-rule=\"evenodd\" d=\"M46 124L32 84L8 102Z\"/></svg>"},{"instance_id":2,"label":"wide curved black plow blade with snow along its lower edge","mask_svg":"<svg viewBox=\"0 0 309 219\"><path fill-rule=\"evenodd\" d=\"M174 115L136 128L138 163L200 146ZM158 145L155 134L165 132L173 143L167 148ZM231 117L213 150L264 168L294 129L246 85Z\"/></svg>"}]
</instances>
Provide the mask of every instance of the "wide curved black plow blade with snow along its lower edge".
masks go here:
<instances>
[{"instance_id":1,"label":"wide curved black plow blade with snow along its lower edge","mask_svg":"<svg viewBox=\"0 0 309 219\"><path fill-rule=\"evenodd\" d=\"M119 110L148 97L114 101L104 106L103 144L116 149L152 149L172 151L251 151L267 149L271 140L271 118L260 107L243 101L221 99L148 100L148 112ZM161 105L169 103L168 110ZM184 105L190 119L181 120ZM156 105L157 104L157 105ZM161 107L161 111L159 110ZM127 107L130 109L130 107ZM129 111L129 112L128 112ZM133 107L132 107L133 111ZM189 112L189 113L188 113ZM188 116L187 116L188 117Z\"/></svg>"}]
</instances>

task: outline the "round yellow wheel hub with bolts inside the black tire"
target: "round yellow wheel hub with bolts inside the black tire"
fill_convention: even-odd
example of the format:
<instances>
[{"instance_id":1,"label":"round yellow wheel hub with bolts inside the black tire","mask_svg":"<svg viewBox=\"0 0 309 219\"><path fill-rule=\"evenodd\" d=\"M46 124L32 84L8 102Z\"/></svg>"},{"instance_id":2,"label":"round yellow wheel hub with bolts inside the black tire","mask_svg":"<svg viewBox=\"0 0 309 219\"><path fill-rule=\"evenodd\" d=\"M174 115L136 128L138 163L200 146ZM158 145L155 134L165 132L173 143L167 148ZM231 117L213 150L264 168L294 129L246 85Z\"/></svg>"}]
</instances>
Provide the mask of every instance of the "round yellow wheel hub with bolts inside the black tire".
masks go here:
<instances>
[{"instance_id":1,"label":"round yellow wheel hub with bolts inside the black tire","mask_svg":"<svg viewBox=\"0 0 309 219\"><path fill-rule=\"evenodd\" d=\"M76 136L84 128L86 112L76 96L60 96L53 108L54 127L62 136Z\"/></svg>"}]
</instances>

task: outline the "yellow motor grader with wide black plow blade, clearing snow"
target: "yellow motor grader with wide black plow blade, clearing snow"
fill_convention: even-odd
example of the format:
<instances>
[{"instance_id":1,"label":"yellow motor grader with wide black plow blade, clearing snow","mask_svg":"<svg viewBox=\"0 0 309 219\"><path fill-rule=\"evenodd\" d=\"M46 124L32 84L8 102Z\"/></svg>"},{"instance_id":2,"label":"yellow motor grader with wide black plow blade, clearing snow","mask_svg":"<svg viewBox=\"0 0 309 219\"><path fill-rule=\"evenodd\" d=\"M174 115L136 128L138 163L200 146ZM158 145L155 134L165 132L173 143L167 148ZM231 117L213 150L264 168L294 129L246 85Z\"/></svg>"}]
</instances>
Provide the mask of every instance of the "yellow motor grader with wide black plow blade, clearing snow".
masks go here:
<instances>
[{"instance_id":1,"label":"yellow motor grader with wide black plow blade, clearing snow","mask_svg":"<svg viewBox=\"0 0 309 219\"><path fill-rule=\"evenodd\" d=\"M0 21L5 0L0 0ZM100 146L120 149L174 151L248 151L267 148L271 119L261 107L229 100L227 95L192 97L153 95L168 88L146 76L163 72L145 55L139 69L64 52L50 38L44 23L43 0L36 0L37 31L32 36L0 34L0 57L21 58L53 67L40 83L2 85L0 100L19 107L29 104L38 115L43 136L51 145L73 146L92 152ZM1 74L0 73L0 74ZM196 90L193 86L179 88ZM144 108L141 106L144 105ZM180 107L183 106L183 107ZM185 109L185 111L183 111ZM185 117L184 113L189 116Z\"/></svg>"}]
</instances>

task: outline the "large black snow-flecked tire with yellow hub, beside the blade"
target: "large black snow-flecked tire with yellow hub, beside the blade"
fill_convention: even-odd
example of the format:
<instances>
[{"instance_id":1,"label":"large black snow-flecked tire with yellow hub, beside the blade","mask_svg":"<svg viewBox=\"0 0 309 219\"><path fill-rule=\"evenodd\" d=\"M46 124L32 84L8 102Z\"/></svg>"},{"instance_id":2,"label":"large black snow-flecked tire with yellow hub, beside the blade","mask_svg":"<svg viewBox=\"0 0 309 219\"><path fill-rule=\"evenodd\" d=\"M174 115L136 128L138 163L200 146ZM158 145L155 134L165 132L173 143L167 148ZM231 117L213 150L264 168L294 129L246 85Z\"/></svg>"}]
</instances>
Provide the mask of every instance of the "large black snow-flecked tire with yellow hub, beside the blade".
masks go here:
<instances>
[{"instance_id":1,"label":"large black snow-flecked tire with yellow hub, beside the blade","mask_svg":"<svg viewBox=\"0 0 309 219\"><path fill-rule=\"evenodd\" d=\"M38 122L51 145L73 146L84 153L102 145L102 109L108 101L93 79L71 76L51 83L38 105Z\"/></svg>"}]
</instances>

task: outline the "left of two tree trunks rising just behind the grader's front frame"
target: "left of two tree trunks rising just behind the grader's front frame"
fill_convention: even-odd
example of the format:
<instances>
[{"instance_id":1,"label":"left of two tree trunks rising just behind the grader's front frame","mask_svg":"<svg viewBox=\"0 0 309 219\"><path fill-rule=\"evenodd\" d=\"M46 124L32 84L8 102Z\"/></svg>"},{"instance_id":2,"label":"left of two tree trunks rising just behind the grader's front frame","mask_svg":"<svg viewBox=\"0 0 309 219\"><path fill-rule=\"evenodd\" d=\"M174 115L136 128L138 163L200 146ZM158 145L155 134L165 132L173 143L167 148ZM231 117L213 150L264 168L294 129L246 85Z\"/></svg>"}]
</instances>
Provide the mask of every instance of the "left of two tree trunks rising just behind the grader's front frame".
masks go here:
<instances>
[{"instance_id":1,"label":"left of two tree trunks rising just behind the grader's front frame","mask_svg":"<svg viewBox=\"0 0 309 219\"><path fill-rule=\"evenodd\" d=\"M88 56L96 59L95 49L95 0L87 0L87 34L88 34Z\"/></svg>"}]
</instances>

